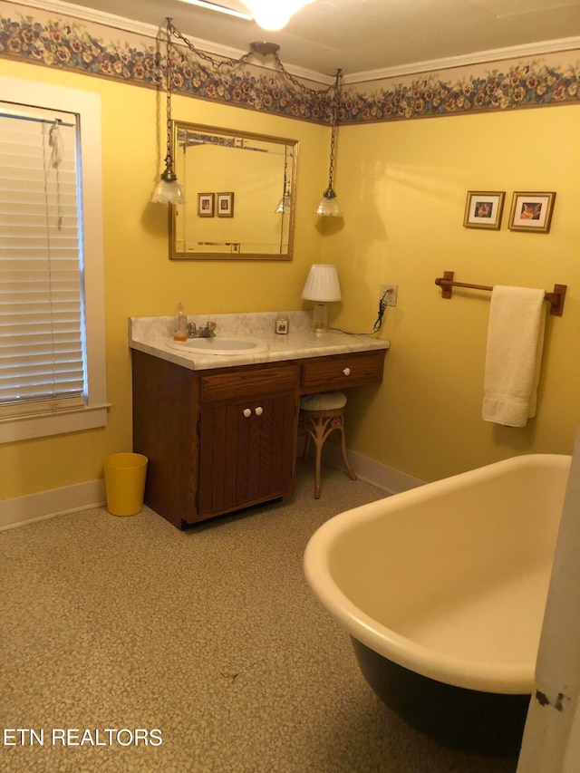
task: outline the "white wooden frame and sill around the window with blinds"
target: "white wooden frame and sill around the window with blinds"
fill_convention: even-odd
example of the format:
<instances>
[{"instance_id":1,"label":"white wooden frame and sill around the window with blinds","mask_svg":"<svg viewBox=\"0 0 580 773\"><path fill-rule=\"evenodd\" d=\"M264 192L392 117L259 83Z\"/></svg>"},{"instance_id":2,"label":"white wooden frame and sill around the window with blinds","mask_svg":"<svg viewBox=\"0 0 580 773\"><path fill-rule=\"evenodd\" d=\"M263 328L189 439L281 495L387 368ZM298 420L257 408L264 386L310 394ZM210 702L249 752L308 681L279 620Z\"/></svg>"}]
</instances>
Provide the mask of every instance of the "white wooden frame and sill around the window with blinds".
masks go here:
<instances>
[{"instance_id":1,"label":"white wooden frame and sill around the window with blinds","mask_svg":"<svg viewBox=\"0 0 580 773\"><path fill-rule=\"evenodd\" d=\"M0 420L0 443L104 427L106 397L105 314L102 246L101 98L64 86L0 75L2 101L73 112L81 128L82 240L86 315L87 401L62 413Z\"/></svg>"}]
</instances>

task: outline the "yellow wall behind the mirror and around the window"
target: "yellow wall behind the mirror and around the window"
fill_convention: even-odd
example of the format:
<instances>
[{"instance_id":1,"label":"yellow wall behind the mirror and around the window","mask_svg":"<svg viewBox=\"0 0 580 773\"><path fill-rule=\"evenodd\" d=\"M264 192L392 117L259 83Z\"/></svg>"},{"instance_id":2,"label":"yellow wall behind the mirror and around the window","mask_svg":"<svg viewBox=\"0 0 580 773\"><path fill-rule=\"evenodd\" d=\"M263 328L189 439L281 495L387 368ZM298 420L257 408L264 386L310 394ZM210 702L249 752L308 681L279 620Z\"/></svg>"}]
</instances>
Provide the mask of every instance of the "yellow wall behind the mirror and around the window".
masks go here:
<instances>
[{"instance_id":1,"label":"yellow wall behind the mirror and around the window","mask_svg":"<svg viewBox=\"0 0 580 773\"><path fill-rule=\"evenodd\" d=\"M131 358L127 318L277 311L301 307L308 269L319 259L314 207L325 187L325 127L174 97L173 117L300 141L293 261L169 261L168 209L149 199L165 157L165 100L149 89L0 59L0 73L97 92L102 97L107 391L104 430L0 446L0 498L102 477L103 459L131 450ZM307 170L307 171L306 171ZM275 206L274 202L274 206ZM171 400L171 395L168 395Z\"/></svg>"}]
</instances>

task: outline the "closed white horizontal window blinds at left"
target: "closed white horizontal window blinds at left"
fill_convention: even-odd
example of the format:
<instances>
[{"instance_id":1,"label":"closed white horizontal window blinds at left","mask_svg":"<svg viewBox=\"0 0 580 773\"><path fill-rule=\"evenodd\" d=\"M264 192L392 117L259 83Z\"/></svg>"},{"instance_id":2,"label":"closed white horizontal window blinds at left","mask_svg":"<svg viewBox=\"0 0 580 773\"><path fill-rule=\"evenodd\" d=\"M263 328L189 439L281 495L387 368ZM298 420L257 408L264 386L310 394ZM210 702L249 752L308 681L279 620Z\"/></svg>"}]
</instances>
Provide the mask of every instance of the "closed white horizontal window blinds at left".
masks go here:
<instances>
[{"instance_id":1,"label":"closed white horizontal window blinds at left","mask_svg":"<svg viewBox=\"0 0 580 773\"><path fill-rule=\"evenodd\" d=\"M0 418L85 402L77 134L0 102Z\"/></svg>"}]
</instances>

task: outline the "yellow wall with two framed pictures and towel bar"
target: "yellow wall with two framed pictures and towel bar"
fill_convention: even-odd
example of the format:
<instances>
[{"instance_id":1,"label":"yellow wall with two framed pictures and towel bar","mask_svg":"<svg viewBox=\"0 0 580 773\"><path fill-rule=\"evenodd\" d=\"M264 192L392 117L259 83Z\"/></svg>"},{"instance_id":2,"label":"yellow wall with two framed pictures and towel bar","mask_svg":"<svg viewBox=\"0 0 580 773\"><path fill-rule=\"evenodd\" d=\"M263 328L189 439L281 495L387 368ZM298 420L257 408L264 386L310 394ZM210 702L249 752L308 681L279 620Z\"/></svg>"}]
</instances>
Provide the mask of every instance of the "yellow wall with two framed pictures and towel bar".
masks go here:
<instances>
[{"instance_id":1,"label":"yellow wall with two framed pictures and towel bar","mask_svg":"<svg viewBox=\"0 0 580 773\"><path fill-rule=\"evenodd\" d=\"M340 265L337 322L368 330L379 287L399 285L386 316L385 382L350 401L349 445L432 480L519 453L570 453L580 423L580 106L344 127L335 189L344 226L323 258ZM464 228L468 190L505 190L499 231ZM507 229L514 190L557 192L549 234ZM442 300L435 277L551 290L536 419L481 419L488 293ZM371 400L369 406L368 401Z\"/></svg>"}]
</instances>

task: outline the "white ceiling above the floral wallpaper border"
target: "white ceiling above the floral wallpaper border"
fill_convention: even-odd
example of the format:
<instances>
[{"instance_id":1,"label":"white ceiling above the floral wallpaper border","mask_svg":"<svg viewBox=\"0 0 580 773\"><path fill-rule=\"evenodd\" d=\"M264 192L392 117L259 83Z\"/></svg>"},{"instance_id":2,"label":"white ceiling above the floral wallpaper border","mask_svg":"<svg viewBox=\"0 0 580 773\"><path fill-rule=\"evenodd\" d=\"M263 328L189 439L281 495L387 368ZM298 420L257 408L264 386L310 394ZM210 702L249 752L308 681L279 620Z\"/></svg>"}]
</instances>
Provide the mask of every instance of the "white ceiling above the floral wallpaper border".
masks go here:
<instances>
[{"instance_id":1,"label":"white ceiling above the floral wallpaper border","mask_svg":"<svg viewBox=\"0 0 580 773\"><path fill-rule=\"evenodd\" d=\"M239 0L213 2L247 11ZM535 53L580 47L580 0L316 0L278 32L181 0L75 0L75 5L154 27L164 27L170 16L194 43L213 43L207 47L213 53L223 47L244 53L253 41L278 43L285 65L324 76L342 68L345 80L354 73L412 72L411 65L451 57L478 61L473 54L497 49ZM546 42L556 43L536 45Z\"/></svg>"}]
</instances>

